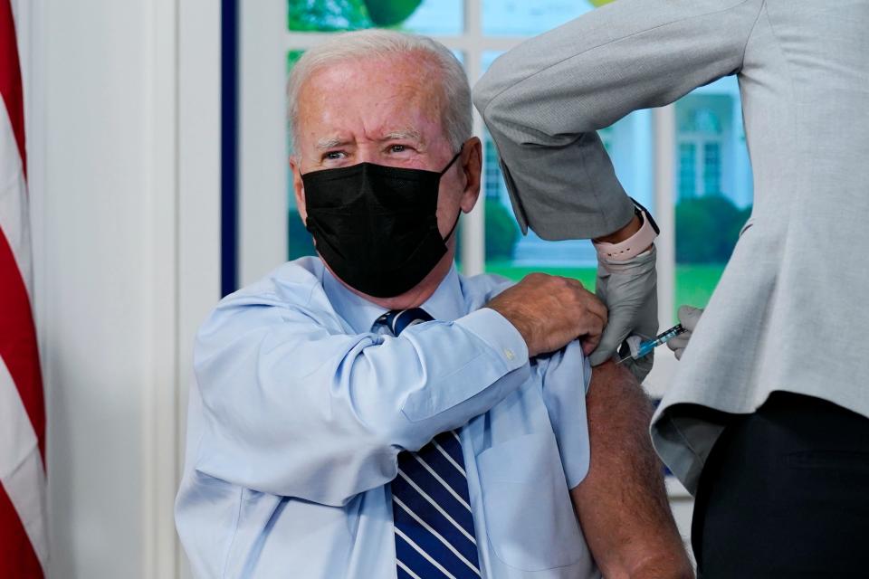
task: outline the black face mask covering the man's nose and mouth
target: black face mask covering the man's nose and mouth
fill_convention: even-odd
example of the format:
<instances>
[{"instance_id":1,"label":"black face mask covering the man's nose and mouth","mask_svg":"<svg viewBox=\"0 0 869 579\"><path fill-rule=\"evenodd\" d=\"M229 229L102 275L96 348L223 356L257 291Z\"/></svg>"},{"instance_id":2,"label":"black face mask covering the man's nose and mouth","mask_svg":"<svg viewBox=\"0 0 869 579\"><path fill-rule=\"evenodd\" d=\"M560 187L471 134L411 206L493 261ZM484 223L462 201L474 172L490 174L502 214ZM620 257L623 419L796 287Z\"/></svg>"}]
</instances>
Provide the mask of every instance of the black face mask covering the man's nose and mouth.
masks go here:
<instances>
[{"instance_id":1,"label":"black face mask covering the man's nose and mouth","mask_svg":"<svg viewBox=\"0 0 869 579\"><path fill-rule=\"evenodd\" d=\"M359 163L301 176L306 226L317 252L350 287L393 298L422 281L446 253L437 229L440 173Z\"/></svg>"}]
</instances>

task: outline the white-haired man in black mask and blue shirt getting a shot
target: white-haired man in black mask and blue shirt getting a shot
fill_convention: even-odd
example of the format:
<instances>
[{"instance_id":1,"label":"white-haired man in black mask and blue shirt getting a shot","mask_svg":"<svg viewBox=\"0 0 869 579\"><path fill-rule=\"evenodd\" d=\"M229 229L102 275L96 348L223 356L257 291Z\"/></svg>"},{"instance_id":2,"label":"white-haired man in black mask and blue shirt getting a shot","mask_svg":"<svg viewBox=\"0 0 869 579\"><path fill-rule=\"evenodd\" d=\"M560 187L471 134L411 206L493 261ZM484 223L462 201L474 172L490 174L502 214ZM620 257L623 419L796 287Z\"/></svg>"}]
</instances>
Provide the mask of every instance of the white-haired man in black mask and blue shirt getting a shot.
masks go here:
<instances>
[{"instance_id":1,"label":"white-haired man in black mask and blue shirt getting a shot","mask_svg":"<svg viewBox=\"0 0 869 579\"><path fill-rule=\"evenodd\" d=\"M481 144L454 56L341 35L297 63L290 102L320 257L197 337L177 498L196 574L690 576L645 399L614 365L590 376L606 308L575 280L455 271Z\"/></svg>"}]
</instances>

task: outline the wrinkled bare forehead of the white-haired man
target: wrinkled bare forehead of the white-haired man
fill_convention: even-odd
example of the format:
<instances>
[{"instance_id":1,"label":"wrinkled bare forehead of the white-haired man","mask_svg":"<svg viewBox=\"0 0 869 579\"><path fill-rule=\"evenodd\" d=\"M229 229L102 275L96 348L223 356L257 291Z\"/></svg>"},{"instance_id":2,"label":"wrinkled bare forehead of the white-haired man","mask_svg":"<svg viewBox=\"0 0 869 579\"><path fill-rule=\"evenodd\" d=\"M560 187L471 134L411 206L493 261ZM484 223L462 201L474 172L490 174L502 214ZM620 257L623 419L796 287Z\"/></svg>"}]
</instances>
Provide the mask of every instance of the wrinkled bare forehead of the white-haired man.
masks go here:
<instances>
[{"instance_id":1,"label":"wrinkled bare forehead of the white-haired man","mask_svg":"<svg viewBox=\"0 0 869 579\"><path fill-rule=\"evenodd\" d=\"M299 99L300 137L346 130L444 138L441 71L415 54L342 61L314 71Z\"/></svg>"}]
</instances>

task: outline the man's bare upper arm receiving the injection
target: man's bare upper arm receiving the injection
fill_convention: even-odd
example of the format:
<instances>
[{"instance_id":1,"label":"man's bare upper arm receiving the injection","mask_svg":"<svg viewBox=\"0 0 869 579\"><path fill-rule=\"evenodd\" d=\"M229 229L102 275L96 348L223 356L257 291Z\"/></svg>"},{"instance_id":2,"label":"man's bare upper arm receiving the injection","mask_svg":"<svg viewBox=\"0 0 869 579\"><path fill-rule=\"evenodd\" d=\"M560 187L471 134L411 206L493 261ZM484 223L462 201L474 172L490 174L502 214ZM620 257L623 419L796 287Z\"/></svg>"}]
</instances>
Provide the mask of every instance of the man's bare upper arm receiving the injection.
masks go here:
<instances>
[{"instance_id":1,"label":"man's bare upper arm receiving the injection","mask_svg":"<svg viewBox=\"0 0 869 579\"><path fill-rule=\"evenodd\" d=\"M648 435L652 406L633 375L596 366L587 394L591 462L570 498L606 577L692 577Z\"/></svg>"}]
</instances>

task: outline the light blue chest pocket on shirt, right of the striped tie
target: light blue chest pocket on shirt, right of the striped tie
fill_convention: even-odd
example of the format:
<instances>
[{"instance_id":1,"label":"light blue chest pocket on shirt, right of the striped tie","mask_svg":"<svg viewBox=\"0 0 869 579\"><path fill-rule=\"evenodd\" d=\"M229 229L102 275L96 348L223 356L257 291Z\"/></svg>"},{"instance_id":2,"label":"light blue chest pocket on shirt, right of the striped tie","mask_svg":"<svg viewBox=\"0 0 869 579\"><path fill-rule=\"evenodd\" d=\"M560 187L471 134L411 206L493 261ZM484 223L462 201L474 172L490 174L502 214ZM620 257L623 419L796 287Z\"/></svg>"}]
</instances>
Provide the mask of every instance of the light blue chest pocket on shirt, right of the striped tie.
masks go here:
<instances>
[{"instance_id":1,"label":"light blue chest pocket on shirt, right of the striped tie","mask_svg":"<svg viewBox=\"0 0 869 579\"><path fill-rule=\"evenodd\" d=\"M495 555L523 571L576 564L587 553L551 432L477 455L486 532Z\"/></svg>"}]
</instances>

